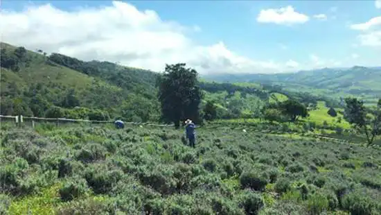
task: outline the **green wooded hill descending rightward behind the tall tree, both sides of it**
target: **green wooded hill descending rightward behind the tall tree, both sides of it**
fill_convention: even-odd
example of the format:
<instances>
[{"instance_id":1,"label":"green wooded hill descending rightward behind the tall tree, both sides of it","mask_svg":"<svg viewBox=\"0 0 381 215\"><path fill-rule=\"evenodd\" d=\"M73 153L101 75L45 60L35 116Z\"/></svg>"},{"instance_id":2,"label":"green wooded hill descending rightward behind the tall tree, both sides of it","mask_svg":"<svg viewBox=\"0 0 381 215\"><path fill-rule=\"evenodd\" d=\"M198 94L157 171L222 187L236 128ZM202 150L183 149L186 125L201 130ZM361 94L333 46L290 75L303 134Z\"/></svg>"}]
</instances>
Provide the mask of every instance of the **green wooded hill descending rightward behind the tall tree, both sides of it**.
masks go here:
<instances>
[{"instance_id":1,"label":"green wooded hill descending rightward behind the tall tree, both sides of it","mask_svg":"<svg viewBox=\"0 0 381 215\"><path fill-rule=\"evenodd\" d=\"M6 43L1 43L1 57L1 114L159 121L158 73L60 53L46 55ZM205 94L202 105L214 101L220 119L259 117L272 92L307 104L322 100L335 106L324 96L272 86L205 81L199 85Z\"/></svg>"}]
</instances>

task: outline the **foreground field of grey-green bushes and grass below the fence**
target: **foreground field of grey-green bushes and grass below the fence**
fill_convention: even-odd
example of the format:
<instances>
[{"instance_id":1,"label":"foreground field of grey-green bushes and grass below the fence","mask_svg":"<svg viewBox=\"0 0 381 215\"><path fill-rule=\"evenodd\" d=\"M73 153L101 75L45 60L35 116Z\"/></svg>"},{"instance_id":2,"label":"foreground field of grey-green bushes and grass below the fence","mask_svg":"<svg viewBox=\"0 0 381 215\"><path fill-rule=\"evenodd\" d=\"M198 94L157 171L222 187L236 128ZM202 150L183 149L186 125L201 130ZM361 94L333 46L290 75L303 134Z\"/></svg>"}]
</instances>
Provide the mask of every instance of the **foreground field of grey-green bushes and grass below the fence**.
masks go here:
<instances>
[{"instance_id":1,"label":"foreground field of grey-green bushes and grass below the fence","mask_svg":"<svg viewBox=\"0 0 381 215\"><path fill-rule=\"evenodd\" d=\"M206 128L197 129L195 148L173 128L37 130L0 130L6 179L0 197L8 214L377 214L381 208L375 169L381 151L372 148Z\"/></svg>"}]
</instances>

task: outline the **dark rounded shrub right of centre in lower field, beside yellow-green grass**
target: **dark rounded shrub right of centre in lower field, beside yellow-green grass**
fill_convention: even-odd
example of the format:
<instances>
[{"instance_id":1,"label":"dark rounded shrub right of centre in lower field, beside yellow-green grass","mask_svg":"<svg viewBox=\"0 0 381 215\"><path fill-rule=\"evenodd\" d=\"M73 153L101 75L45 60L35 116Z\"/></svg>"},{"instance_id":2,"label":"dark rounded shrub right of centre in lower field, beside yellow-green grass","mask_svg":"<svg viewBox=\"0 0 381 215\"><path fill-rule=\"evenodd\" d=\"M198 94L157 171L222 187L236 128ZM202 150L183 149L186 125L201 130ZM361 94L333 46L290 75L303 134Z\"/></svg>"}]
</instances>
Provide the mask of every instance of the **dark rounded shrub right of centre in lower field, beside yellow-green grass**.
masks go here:
<instances>
[{"instance_id":1,"label":"dark rounded shrub right of centre in lower field, beside yellow-green grass","mask_svg":"<svg viewBox=\"0 0 381 215\"><path fill-rule=\"evenodd\" d=\"M251 188L256 191L263 191L267 185L265 175L260 175L255 171L246 171L240 175L240 184L243 188Z\"/></svg>"}]
</instances>

